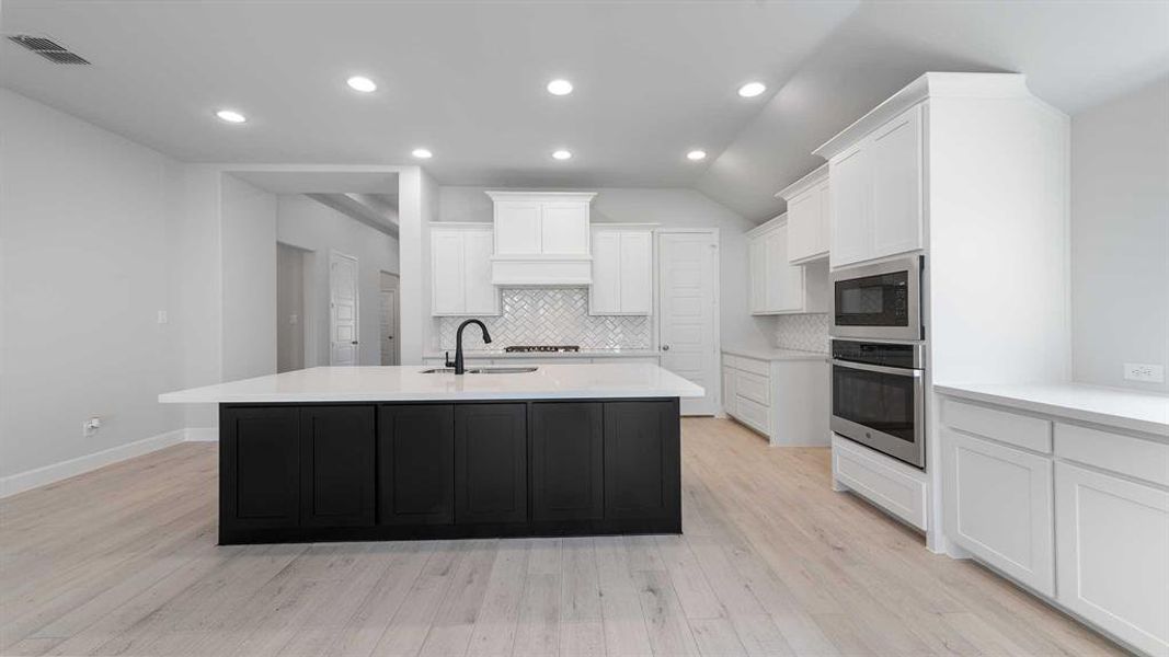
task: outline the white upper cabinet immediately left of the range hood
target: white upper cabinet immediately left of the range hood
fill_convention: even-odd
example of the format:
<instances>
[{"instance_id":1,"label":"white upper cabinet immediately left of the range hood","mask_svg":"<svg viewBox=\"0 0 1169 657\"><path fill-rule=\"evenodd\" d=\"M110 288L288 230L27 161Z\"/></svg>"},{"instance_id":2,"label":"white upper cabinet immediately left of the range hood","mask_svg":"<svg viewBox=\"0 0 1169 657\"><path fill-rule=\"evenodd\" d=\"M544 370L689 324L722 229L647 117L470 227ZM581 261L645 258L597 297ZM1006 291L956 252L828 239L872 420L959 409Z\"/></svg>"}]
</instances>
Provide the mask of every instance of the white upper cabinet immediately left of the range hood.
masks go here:
<instances>
[{"instance_id":1,"label":"white upper cabinet immediately left of the range hood","mask_svg":"<svg viewBox=\"0 0 1169 657\"><path fill-rule=\"evenodd\" d=\"M430 314L499 314L489 223L431 224Z\"/></svg>"}]
</instances>

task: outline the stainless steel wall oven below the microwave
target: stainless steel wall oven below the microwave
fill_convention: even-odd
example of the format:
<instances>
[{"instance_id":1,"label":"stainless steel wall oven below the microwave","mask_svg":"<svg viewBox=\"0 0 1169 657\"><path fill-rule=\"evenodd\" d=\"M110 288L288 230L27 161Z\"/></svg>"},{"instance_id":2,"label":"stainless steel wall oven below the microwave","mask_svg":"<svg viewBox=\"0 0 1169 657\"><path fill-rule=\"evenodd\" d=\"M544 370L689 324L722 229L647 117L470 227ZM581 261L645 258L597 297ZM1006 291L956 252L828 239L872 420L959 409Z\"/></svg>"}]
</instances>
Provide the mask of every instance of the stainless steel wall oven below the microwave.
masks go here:
<instances>
[{"instance_id":1,"label":"stainless steel wall oven below the microwave","mask_svg":"<svg viewBox=\"0 0 1169 657\"><path fill-rule=\"evenodd\" d=\"M926 466L924 345L832 340L832 431Z\"/></svg>"}]
</instances>

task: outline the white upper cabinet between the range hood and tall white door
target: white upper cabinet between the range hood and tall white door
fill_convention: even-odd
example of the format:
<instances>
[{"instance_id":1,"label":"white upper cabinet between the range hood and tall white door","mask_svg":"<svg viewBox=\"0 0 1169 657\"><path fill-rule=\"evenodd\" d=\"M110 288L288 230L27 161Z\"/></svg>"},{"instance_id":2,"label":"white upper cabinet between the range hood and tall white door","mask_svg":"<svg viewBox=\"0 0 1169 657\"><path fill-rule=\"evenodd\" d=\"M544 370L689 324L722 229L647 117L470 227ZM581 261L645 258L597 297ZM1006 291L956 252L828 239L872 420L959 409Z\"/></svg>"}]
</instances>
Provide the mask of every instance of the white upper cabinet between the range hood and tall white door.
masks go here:
<instances>
[{"instance_id":1,"label":"white upper cabinet between the range hood and tall white door","mask_svg":"<svg viewBox=\"0 0 1169 657\"><path fill-rule=\"evenodd\" d=\"M653 312L653 233L649 226L593 229L590 314Z\"/></svg>"}]
</instances>

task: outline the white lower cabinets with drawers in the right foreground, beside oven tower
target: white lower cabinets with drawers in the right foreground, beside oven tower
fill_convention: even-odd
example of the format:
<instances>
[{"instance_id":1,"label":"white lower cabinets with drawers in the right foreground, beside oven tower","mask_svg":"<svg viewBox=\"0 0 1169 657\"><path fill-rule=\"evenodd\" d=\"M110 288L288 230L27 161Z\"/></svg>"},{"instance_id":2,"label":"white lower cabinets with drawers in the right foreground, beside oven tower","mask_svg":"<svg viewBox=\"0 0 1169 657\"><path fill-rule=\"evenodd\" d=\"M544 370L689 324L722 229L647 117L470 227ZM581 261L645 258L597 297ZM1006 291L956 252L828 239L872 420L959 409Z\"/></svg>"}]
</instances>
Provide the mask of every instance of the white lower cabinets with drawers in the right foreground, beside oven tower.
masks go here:
<instances>
[{"instance_id":1,"label":"white lower cabinets with drawers in the right foreground, beside oven tower","mask_svg":"<svg viewBox=\"0 0 1169 657\"><path fill-rule=\"evenodd\" d=\"M941 419L946 537L1169 657L1169 442L948 396Z\"/></svg>"}]
</instances>

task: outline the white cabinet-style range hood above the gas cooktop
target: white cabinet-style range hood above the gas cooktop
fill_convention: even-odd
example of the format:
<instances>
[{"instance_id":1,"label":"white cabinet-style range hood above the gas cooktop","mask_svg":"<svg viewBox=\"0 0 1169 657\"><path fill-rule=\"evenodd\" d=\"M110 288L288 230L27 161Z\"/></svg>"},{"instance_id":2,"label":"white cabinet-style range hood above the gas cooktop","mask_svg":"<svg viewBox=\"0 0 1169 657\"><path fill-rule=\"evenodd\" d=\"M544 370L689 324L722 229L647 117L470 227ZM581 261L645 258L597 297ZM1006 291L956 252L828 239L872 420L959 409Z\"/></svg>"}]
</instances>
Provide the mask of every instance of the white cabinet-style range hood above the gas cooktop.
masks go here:
<instances>
[{"instance_id":1,"label":"white cabinet-style range hood above the gas cooktop","mask_svg":"<svg viewBox=\"0 0 1169 657\"><path fill-rule=\"evenodd\" d=\"M487 192L494 201L491 283L586 286L593 283L589 208L594 192Z\"/></svg>"}]
</instances>

